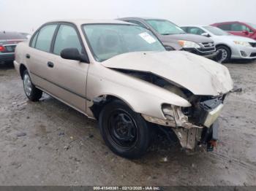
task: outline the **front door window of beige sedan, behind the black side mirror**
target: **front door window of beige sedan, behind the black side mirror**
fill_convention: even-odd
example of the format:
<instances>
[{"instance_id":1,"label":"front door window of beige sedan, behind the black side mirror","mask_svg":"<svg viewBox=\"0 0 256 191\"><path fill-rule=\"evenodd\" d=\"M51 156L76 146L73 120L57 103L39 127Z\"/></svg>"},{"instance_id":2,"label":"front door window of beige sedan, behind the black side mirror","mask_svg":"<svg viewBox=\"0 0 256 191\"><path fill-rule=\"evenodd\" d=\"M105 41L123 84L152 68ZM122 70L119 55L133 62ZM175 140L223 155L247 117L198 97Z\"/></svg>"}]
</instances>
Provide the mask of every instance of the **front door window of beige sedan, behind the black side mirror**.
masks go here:
<instances>
[{"instance_id":1,"label":"front door window of beige sedan, behind the black side mirror","mask_svg":"<svg viewBox=\"0 0 256 191\"><path fill-rule=\"evenodd\" d=\"M60 55L61 50L64 50L65 48L77 48L80 53L82 52L82 46L75 28L72 26L61 25L56 36L53 53Z\"/></svg>"}]
</instances>

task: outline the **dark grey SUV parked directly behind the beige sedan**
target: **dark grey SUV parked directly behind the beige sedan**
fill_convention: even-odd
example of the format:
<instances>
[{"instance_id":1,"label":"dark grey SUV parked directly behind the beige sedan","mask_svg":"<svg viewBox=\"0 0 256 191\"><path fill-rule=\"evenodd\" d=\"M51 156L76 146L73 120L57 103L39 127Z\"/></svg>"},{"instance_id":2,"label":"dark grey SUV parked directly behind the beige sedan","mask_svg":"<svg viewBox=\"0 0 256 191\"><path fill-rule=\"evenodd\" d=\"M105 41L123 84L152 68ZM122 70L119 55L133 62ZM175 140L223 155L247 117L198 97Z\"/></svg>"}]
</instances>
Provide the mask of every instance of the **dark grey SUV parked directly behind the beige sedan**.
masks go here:
<instances>
[{"instance_id":1,"label":"dark grey SUV parked directly behind the beige sedan","mask_svg":"<svg viewBox=\"0 0 256 191\"><path fill-rule=\"evenodd\" d=\"M141 17L124 17L118 20L147 28L157 36L167 50L186 50L213 59L217 56L215 44L211 39L205 36L187 34L169 20Z\"/></svg>"}]
</instances>

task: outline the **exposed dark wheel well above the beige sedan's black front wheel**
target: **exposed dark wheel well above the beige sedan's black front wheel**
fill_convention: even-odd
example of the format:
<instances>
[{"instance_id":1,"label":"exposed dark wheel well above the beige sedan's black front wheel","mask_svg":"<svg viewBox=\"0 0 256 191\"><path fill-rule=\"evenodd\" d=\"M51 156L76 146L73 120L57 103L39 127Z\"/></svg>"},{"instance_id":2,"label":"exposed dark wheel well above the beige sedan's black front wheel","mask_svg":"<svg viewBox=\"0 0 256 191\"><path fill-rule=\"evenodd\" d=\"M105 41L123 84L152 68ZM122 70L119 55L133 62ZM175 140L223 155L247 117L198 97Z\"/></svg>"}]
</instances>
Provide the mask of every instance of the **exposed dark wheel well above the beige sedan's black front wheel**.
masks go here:
<instances>
[{"instance_id":1,"label":"exposed dark wheel well above the beige sedan's black front wheel","mask_svg":"<svg viewBox=\"0 0 256 191\"><path fill-rule=\"evenodd\" d=\"M103 107L105 105L107 105L108 103L114 101L114 100L123 101L123 100L121 100L120 98L118 98L114 95L101 95L97 98L94 98L93 99L94 104L90 107L91 112L94 114L94 117L98 120L99 119L99 113L102 111Z\"/></svg>"}]
</instances>

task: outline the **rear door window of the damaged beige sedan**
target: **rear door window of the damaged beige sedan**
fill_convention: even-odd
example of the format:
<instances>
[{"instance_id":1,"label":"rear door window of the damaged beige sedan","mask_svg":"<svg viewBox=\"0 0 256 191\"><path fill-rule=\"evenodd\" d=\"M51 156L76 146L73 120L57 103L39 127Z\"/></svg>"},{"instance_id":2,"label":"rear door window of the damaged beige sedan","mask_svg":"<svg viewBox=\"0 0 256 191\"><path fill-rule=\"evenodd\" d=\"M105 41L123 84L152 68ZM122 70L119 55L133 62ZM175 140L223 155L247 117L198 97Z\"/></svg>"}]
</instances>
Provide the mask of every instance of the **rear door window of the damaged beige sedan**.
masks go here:
<instances>
[{"instance_id":1,"label":"rear door window of the damaged beige sedan","mask_svg":"<svg viewBox=\"0 0 256 191\"><path fill-rule=\"evenodd\" d=\"M43 50L45 52L50 52L50 43L53 39L54 31L56 30L57 25L48 25L40 29L37 36L37 42L35 47L38 50Z\"/></svg>"}]
</instances>

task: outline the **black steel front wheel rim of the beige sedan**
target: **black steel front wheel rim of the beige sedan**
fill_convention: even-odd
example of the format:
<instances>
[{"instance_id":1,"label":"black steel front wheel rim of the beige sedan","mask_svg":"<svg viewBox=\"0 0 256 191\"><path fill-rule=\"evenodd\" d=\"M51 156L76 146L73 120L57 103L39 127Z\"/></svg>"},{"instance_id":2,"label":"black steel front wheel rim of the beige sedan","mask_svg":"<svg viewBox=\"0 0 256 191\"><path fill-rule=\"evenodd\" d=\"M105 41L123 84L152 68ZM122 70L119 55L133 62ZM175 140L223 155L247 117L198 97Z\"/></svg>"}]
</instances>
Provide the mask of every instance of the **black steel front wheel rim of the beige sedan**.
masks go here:
<instances>
[{"instance_id":1,"label":"black steel front wheel rim of the beige sedan","mask_svg":"<svg viewBox=\"0 0 256 191\"><path fill-rule=\"evenodd\" d=\"M138 141L138 127L133 117L123 109L111 112L108 118L108 136L118 147L134 147Z\"/></svg>"}]
</instances>

